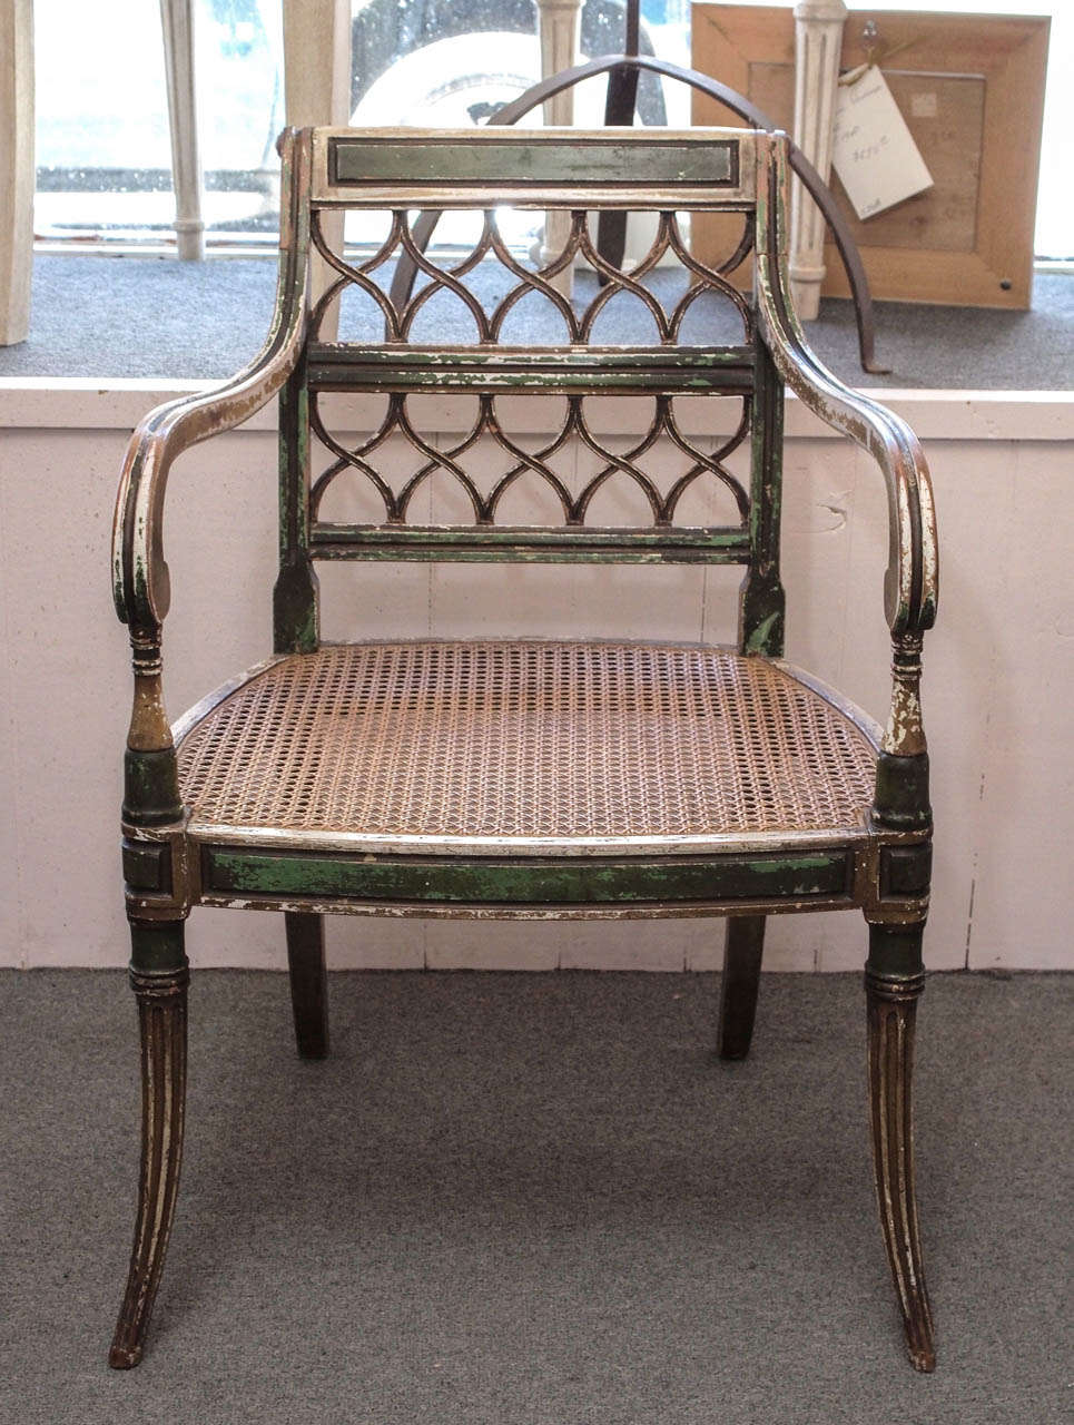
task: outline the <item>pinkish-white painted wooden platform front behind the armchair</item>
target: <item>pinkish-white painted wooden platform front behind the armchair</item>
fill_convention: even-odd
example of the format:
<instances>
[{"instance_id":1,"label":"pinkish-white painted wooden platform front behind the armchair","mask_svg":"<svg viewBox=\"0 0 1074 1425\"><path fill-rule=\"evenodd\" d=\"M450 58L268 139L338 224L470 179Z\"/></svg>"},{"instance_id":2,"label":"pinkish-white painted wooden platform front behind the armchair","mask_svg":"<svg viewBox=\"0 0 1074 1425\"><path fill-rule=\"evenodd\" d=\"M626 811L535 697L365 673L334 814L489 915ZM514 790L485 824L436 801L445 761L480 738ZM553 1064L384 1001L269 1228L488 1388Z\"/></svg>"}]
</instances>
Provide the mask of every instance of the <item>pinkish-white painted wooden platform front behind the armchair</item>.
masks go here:
<instances>
[{"instance_id":1,"label":"pinkish-white painted wooden platform front behind the armchair","mask_svg":"<svg viewBox=\"0 0 1074 1425\"><path fill-rule=\"evenodd\" d=\"M0 819L0 963L118 966L127 955L110 835L121 795L115 750L128 712L127 650L103 570L127 432L168 393L150 382L104 390L71 383L58 392L56 383L51 390L0 383L0 678L10 690L0 711L0 797L9 808ZM1074 574L1063 522L1041 532L1038 512L1070 500L1074 398L896 392L885 399L907 419L927 418L944 554L942 613L926 643L924 673L936 808L926 963L1073 968L1061 895L1074 838L1065 755L1074 674L1063 660ZM818 437L819 428L793 400L788 428L788 654L882 717L889 658L883 484L867 456ZM275 459L266 418L177 463L165 544L175 590L165 647L174 717L269 646ZM17 477L21 472L34 479ZM248 542L235 540L239 524ZM222 600L207 577L221 569L228 570ZM699 586L699 571L688 567L520 566L509 583L520 574L526 583L509 590L504 617L534 636L659 638L699 630L728 638L738 573L712 569ZM480 566L473 573L322 566L325 631L491 631L493 611L483 603L491 574L503 589L503 570ZM487 584L469 581L486 577ZM53 849L58 825L83 848L74 869ZM1028 832L1040 825L1051 828L1050 836L1036 838L1030 855ZM283 966L276 916L244 918L241 943L236 923L228 912L199 909L188 936L194 963ZM856 912L773 916L765 963L860 969L863 952ZM712 921L550 923L523 933L503 923L339 916L329 921L329 956L340 968L716 969L722 928Z\"/></svg>"}]
</instances>

